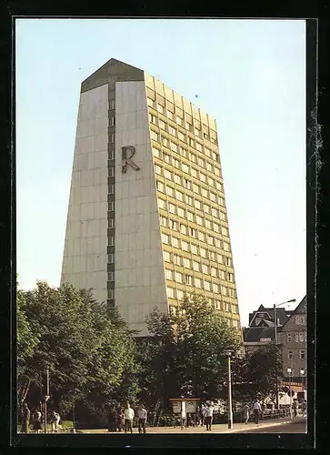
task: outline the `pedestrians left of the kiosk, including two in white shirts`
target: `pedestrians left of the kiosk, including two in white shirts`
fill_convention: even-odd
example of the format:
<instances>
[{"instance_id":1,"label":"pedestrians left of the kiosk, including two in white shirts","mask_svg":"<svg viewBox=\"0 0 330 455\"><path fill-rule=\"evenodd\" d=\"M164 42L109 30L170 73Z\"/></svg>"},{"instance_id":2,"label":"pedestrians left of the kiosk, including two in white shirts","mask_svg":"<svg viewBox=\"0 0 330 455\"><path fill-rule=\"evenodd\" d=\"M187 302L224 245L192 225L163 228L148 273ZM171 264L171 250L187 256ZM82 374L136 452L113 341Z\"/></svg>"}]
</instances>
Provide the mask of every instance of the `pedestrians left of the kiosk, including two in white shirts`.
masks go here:
<instances>
[{"instance_id":1,"label":"pedestrians left of the kiosk, including two in white shirts","mask_svg":"<svg viewBox=\"0 0 330 455\"><path fill-rule=\"evenodd\" d=\"M147 411L145 406L141 404L137 410L137 426L138 432L145 433L145 424L147 419ZM108 430L110 432L122 431L125 433L133 433L133 426L135 420L135 410L127 403L125 409L122 407L111 408L108 415Z\"/></svg>"}]
</instances>

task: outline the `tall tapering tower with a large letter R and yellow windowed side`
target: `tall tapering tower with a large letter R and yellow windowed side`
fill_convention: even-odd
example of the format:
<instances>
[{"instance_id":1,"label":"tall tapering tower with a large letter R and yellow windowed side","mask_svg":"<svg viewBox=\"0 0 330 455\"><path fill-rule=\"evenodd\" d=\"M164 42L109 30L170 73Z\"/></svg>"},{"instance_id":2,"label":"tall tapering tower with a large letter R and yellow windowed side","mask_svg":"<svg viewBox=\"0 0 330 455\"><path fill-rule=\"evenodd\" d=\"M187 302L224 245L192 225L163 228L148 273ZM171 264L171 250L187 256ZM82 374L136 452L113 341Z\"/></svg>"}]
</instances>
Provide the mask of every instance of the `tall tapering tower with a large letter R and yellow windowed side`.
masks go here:
<instances>
[{"instance_id":1,"label":"tall tapering tower with a large letter R and yellow windowed side","mask_svg":"<svg viewBox=\"0 0 330 455\"><path fill-rule=\"evenodd\" d=\"M215 119L111 59L82 83L62 282L131 329L204 295L240 329Z\"/></svg>"}]
</instances>

